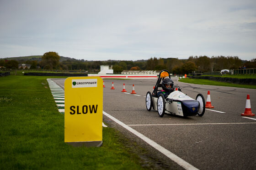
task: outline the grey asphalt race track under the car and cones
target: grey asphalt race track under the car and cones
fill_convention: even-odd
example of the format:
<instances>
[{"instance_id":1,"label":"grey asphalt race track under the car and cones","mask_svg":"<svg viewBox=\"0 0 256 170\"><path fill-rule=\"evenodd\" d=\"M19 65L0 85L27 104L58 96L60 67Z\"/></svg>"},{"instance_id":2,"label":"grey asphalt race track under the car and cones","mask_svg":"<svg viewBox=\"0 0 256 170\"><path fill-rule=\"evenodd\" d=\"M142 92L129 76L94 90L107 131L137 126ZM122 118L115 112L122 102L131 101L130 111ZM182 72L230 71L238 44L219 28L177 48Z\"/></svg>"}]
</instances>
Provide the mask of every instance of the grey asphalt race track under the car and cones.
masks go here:
<instances>
[{"instance_id":1,"label":"grey asphalt race track under the car and cones","mask_svg":"<svg viewBox=\"0 0 256 170\"><path fill-rule=\"evenodd\" d=\"M175 85L181 87L183 93L194 99L201 93L206 100L209 90L214 108L205 110L202 117L165 114L161 118L157 111L147 111L145 106L145 95L147 91L152 93L156 79L104 79L106 87L103 90L103 110L197 169L255 170L256 116L245 118L241 113L245 111L247 94L250 95L252 113L256 113L256 90L194 85L178 82L176 77L172 79ZM64 79L53 80L64 86ZM112 82L115 90L111 90ZM126 93L121 92L123 83ZM130 94L133 84L136 95ZM143 148L151 150L156 159L168 165L173 164L168 157L117 125L109 117L104 115L103 121L122 131ZM179 165L175 166L176 169L182 169Z\"/></svg>"}]
</instances>

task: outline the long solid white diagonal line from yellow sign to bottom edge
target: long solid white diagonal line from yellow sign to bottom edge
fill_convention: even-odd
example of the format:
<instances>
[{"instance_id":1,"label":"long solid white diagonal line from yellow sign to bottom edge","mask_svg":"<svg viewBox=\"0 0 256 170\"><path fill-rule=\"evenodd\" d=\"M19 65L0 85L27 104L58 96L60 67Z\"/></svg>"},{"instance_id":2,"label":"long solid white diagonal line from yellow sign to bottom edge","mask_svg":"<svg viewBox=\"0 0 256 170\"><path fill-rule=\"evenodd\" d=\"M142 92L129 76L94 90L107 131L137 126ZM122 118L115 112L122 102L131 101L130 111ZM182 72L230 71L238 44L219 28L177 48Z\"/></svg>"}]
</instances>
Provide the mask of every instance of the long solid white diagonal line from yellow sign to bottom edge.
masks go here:
<instances>
[{"instance_id":1,"label":"long solid white diagonal line from yellow sign to bottom edge","mask_svg":"<svg viewBox=\"0 0 256 170\"><path fill-rule=\"evenodd\" d=\"M178 165L180 165L181 167L183 167L186 170L198 170L196 167L194 167L193 165L187 163L185 160L182 160L180 157L178 157L177 155L173 154L171 151L166 150L164 147L162 147L161 145L157 144L155 141L150 140L148 137L142 135L141 133L139 133L138 131L134 130L133 128L129 127L128 125L125 125L123 122L121 122L120 120L117 120L116 118L114 118L112 115L109 115L108 113L106 113L105 111L103 111L103 115L106 115L107 117L109 117L110 119L112 119L113 121L115 121L117 124L123 126L125 129L129 130L130 132L132 132L134 135L138 136L140 139L144 140L145 142L147 142L149 145L151 145L152 147L154 147L156 150L160 151L162 154L164 154L165 156L167 156L168 158L170 158L171 160L175 161Z\"/></svg>"}]
</instances>

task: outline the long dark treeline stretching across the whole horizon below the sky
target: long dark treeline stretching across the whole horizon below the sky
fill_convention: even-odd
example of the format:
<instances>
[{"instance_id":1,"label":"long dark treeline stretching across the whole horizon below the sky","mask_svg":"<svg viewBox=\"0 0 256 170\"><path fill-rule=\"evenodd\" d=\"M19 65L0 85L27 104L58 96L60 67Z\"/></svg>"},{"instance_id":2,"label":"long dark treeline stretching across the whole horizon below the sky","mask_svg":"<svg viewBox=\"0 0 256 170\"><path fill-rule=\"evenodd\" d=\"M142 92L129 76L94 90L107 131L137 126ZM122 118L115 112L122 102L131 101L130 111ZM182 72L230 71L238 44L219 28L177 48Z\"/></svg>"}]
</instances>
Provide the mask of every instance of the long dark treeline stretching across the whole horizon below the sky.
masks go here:
<instances>
[{"instance_id":1,"label":"long dark treeline stretching across the whole horizon below the sky","mask_svg":"<svg viewBox=\"0 0 256 170\"><path fill-rule=\"evenodd\" d=\"M149 60L107 60L88 61L60 57L56 52L47 52L41 60L0 60L0 66L17 69L18 64L30 64L30 69L45 70L84 70L98 72L101 65L113 65L114 73L123 70L169 70L173 74L189 74L193 71L207 72L223 69L256 68L256 59L240 60L237 56L190 56L188 59L150 58Z\"/></svg>"}]
</instances>

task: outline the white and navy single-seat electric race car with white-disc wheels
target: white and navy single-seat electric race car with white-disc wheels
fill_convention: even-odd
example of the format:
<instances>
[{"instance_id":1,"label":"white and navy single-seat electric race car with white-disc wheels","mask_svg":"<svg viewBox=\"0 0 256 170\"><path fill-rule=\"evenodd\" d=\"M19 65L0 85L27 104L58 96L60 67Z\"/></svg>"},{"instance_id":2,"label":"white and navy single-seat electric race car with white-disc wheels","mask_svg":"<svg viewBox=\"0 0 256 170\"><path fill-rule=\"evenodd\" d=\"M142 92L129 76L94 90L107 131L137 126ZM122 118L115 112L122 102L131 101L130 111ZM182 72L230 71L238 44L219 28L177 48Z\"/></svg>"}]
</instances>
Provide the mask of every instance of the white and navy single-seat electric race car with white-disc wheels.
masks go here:
<instances>
[{"instance_id":1,"label":"white and navy single-seat electric race car with white-disc wheels","mask_svg":"<svg viewBox=\"0 0 256 170\"><path fill-rule=\"evenodd\" d=\"M196 100L181 92L181 87L171 87L171 93L165 95L160 91L162 84L165 83L165 77L171 79L170 73L167 70L162 70L159 74L155 88L151 94L150 91L146 95L146 108L148 111L153 108L158 111L158 115L163 117L165 113L170 113L180 116L203 116L205 111L205 100L202 94L198 94ZM168 79L168 80L169 80ZM172 80L171 80L172 81ZM173 81L172 81L173 85Z\"/></svg>"}]
</instances>

